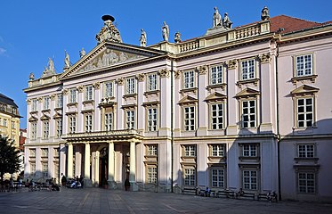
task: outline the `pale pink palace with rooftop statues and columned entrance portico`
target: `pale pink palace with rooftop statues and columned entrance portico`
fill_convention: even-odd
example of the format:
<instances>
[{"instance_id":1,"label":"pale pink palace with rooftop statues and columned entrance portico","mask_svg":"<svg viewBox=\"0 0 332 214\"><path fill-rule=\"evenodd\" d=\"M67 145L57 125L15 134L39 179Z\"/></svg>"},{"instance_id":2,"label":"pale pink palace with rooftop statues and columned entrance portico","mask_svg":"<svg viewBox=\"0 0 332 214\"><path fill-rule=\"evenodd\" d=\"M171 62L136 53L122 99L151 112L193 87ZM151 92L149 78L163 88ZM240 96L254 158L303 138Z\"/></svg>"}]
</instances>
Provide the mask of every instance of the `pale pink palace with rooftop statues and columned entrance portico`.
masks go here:
<instances>
[{"instance_id":1,"label":"pale pink palace with rooftop statues and columned entrance portico","mask_svg":"<svg viewBox=\"0 0 332 214\"><path fill-rule=\"evenodd\" d=\"M25 177L332 200L332 26L285 15L146 46L103 16L98 45L30 75ZM145 36L145 37L144 37Z\"/></svg>"}]
</instances>

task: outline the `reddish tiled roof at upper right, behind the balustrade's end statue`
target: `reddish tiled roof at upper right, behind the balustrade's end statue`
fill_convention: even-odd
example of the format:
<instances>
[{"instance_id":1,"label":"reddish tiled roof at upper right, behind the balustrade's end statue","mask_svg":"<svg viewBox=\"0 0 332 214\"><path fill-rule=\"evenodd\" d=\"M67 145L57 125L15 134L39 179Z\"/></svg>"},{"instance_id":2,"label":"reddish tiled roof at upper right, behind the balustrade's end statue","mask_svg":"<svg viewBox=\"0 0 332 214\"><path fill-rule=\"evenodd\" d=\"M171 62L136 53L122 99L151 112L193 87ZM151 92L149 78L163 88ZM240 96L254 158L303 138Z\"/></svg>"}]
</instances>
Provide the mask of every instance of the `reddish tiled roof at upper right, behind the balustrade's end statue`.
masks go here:
<instances>
[{"instance_id":1,"label":"reddish tiled roof at upper right, behind the balustrade's end statue","mask_svg":"<svg viewBox=\"0 0 332 214\"><path fill-rule=\"evenodd\" d=\"M320 27L329 24L328 22L331 22L328 21L325 23L319 23L314 21L304 21L286 15L275 16L272 17L270 20L271 20L271 32L276 32L279 29L284 29L282 30L282 34L298 31L301 29L312 29L315 27Z\"/></svg>"}]
</instances>

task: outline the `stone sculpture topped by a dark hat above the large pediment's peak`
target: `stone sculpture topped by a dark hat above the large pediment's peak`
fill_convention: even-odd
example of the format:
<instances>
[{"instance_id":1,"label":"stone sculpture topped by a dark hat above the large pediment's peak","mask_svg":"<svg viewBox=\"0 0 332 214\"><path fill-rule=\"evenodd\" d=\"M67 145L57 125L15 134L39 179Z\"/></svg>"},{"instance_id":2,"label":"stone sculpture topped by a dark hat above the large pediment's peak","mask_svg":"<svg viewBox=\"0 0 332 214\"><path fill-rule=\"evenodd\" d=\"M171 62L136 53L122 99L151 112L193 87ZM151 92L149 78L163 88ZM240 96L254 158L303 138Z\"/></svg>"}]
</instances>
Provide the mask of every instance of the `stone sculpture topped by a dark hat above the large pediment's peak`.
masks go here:
<instances>
[{"instance_id":1,"label":"stone sculpture topped by a dark hat above the large pediment's peak","mask_svg":"<svg viewBox=\"0 0 332 214\"><path fill-rule=\"evenodd\" d=\"M105 40L122 43L120 32L113 24L113 21L115 21L115 19L110 15L103 15L101 19L104 21L104 26L101 28L101 31L96 35L98 43L101 43Z\"/></svg>"}]
</instances>

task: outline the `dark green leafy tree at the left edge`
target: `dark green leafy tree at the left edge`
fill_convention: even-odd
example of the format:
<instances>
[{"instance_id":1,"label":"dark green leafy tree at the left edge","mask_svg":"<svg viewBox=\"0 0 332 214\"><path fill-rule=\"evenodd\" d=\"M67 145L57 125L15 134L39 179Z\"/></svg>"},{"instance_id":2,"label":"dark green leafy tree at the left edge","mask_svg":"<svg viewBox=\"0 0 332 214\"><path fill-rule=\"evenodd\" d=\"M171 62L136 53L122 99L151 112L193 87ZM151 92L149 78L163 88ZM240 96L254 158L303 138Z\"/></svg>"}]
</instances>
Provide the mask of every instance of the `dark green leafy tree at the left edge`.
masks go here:
<instances>
[{"instance_id":1,"label":"dark green leafy tree at the left edge","mask_svg":"<svg viewBox=\"0 0 332 214\"><path fill-rule=\"evenodd\" d=\"M4 173L14 173L20 169L20 151L14 141L0 136L0 177L4 180Z\"/></svg>"}]
</instances>

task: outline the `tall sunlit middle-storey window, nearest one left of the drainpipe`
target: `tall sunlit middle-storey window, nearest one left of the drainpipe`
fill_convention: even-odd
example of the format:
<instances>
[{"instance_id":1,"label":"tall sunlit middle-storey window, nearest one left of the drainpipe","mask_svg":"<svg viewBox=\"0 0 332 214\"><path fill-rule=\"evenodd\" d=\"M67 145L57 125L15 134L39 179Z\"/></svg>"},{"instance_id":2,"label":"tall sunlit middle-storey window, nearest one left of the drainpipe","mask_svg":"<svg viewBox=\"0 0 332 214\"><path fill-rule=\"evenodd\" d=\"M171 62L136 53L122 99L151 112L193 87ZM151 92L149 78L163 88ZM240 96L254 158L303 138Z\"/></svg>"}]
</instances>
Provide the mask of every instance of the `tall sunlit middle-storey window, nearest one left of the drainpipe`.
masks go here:
<instances>
[{"instance_id":1,"label":"tall sunlit middle-storey window, nearest one left of the drainpipe","mask_svg":"<svg viewBox=\"0 0 332 214\"><path fill-rule=\"evenodd\" d=\"M242 128L256 127L256 101L242 101Z\"/></svg>"}]
</instances>

